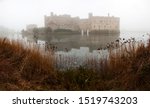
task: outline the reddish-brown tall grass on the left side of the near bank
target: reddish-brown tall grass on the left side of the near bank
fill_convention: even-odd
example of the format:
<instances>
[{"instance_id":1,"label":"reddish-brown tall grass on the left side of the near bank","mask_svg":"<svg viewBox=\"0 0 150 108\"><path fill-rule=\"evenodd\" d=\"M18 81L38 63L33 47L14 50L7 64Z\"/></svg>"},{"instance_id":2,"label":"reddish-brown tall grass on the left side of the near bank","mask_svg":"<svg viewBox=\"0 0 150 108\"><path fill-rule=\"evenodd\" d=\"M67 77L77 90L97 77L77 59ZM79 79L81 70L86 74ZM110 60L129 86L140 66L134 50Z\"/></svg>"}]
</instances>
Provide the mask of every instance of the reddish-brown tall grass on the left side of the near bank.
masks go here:
<instances>
[{"instance_id":1,"label":"reddish-brown tall grass on the left side of the near bank","mask_svg":"<svg viewBox=\"0 0 150 108\"><path fill-rule=\"evenodd\" d=\"M19 42L0 39L1 90L34 90L37 83L55 75L51 55L42 55L36 47L25 48Z\"/></svg>"}]
</instances>

